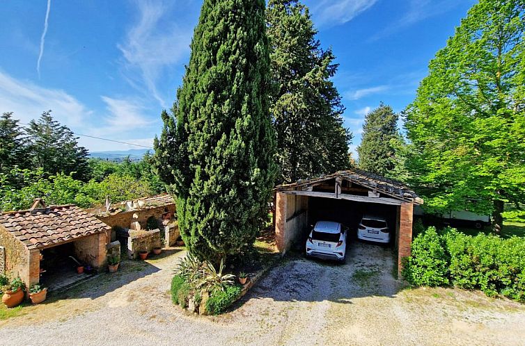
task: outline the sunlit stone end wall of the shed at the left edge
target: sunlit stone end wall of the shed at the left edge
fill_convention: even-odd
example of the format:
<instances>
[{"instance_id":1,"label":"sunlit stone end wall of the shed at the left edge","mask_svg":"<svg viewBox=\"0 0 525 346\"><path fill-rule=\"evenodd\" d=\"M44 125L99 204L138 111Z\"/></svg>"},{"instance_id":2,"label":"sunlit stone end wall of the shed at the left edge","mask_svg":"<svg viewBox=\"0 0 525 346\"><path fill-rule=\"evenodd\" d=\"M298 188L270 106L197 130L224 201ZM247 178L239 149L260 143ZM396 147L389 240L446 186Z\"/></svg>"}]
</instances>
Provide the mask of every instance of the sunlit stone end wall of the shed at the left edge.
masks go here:
<instances>
[{"instance_id":1,"label":"sunlit stone end wall of the shed at the left edge","mask_svg":"<svg viewBox=\"0 0 525 346\"><path fill-rule=\"evenodd\" d=\"M0 226L0 246L5 248L6 274L29 283L29 249L3 226Z\"/></svg>"}]
</instances>

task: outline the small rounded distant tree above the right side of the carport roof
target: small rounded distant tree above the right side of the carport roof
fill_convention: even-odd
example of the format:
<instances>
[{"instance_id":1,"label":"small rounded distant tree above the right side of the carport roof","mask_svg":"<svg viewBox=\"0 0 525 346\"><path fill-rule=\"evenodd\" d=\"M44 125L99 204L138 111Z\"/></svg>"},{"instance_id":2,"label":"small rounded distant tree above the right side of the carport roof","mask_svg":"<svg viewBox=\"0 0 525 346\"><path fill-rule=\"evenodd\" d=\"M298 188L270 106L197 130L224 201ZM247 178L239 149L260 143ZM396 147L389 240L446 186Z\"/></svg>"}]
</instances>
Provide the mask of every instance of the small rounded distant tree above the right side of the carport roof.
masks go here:
<instances>
[{"instance_id":1,"label":"small rounded distant tree above the right side of the carport roof","mask_svg":"<svg viewBox=\"0 0 525 346\"><path fill-rule=\"evenodd\" d=\"M359 168L391 176L395 168L395 140L400 138L398 115L391 106L380 104L368 113L363 124L363 139L357 147Z\"/></svg>"}]
</instances>

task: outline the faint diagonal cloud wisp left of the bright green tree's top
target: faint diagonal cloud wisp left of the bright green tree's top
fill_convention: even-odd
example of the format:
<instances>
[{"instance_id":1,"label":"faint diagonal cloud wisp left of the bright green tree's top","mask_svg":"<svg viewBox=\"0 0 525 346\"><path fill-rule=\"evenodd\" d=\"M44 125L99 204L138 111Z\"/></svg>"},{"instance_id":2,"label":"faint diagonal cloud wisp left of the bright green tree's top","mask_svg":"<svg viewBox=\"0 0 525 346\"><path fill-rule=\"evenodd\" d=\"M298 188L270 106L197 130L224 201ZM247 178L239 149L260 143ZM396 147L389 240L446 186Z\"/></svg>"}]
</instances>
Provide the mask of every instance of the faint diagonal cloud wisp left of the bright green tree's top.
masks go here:
<instances>
[{"instance_id":1,"label":"faint diagonal cloud wisp left of the bright green tree's top","mask_svg":"<svg viewBox=\"0 0 525 346\"><path fill-rule=\"evenodd\" d=\"M430 17L447 13L459 5L461 1L457 0L410 0L405 15L370 37L370 41L379 40Z\"/></svg>"}]
</instances>

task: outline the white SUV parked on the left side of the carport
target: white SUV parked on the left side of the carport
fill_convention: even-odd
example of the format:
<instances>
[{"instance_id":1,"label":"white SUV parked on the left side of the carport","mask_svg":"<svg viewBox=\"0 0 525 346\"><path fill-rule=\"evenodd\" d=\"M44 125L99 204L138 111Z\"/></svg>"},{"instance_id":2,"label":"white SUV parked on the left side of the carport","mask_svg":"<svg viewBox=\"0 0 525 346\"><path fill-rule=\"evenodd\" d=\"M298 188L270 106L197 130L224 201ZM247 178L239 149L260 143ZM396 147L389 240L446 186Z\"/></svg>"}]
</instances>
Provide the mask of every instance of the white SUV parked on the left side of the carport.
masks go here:
<instances>
[{"instance_id":1,"label":"white SUV parked on the left side of the carport","mask_svg":"<svg viewBox=\"0 0 525 346\"><path fill-rule=\"evenodd\" d=\"M318 221L306 240L306 256L345 263L346 235L347 229L339 222Z\"/></svg>"}]
</instances>

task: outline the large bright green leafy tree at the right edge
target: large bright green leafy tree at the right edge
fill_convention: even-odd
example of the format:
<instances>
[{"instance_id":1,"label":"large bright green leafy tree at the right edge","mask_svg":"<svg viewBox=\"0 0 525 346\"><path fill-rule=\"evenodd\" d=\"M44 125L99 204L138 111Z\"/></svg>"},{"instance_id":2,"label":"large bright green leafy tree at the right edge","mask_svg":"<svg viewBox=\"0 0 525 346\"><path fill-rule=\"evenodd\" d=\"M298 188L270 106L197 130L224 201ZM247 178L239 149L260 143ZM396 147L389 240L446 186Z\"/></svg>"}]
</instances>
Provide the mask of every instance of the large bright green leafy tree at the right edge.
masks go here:
<instances>
[{"instance_id":1,"label":"large bright green leafy tree at the right edge","mask_svg":"<svg viewBox=\"0 0 525 346\"><path fill-rule=\"evenodd\" d=\"M430 62L407 109L414 185L434 209L525 200L525 2L480 0Z\"/></svg>"}]
</instances>

